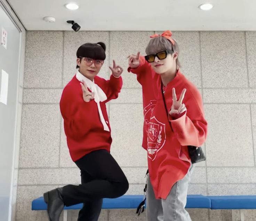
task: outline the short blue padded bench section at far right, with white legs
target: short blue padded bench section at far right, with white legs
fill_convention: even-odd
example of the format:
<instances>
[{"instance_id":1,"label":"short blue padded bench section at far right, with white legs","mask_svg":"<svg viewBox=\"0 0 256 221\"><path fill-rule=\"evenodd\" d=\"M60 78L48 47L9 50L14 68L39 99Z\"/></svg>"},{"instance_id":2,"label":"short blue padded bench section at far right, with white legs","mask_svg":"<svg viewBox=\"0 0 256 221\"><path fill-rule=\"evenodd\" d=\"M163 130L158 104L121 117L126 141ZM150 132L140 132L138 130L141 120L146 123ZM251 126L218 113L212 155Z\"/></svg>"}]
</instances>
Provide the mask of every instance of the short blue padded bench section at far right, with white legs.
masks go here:
<instances>
[{"instance_id":1,"label":"short blue padded bench section at far right, with white legs","mask_svg":"<svg viewBox=\"0 0 256 221\"><path fill-rule=\"evenodd\" d=\"M231 210L232 221L235 221L234 210L240 210L240 220L245 221L243 210L256 209L256 195L248 196L208 196L212 210Z\"/></svg>"}]
</instances>

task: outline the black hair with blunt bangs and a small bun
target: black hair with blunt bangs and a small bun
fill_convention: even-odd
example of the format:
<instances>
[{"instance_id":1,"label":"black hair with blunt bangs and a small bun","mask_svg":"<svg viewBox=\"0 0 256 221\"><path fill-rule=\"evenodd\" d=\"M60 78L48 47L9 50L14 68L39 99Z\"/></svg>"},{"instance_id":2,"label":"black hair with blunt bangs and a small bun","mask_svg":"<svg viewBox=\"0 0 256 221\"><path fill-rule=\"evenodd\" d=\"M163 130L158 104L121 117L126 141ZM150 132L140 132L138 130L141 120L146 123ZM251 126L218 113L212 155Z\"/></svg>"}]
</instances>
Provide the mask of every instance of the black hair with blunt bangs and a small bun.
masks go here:
<instances>
[{"instance_id":1,"label":"black hair with blunt bangs and a small bun","mask_svg":"<svg viewBox=\"0 0 256 221\"><path fill-rule=\"evenodd\" d=\"M92 59L98 59L98 60L105 60L106 59L106 45L103 42L98 43L85 43L81 45L77 50L77 58L81 57L87 57ZM77 65L77 68L79 66Z\"/></svg>"}]
</instances>

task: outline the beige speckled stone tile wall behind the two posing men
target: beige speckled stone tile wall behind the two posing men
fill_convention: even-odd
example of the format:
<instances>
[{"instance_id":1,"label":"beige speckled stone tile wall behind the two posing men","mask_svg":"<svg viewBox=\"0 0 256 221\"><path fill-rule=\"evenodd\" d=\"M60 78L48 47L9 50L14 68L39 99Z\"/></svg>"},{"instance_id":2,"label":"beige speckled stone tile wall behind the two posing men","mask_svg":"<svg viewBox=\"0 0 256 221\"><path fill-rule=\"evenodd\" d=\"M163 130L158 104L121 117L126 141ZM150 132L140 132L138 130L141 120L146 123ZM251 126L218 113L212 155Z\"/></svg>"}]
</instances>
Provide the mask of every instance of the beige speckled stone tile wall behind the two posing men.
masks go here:
<instances>
[{"instance_id":1,"label":"beige speckled stone tile wall behind the two posing men","mask_svg":"<svg viewBox=\"0 0 256 221\"><path fill-rule=\"evenodd\" d=\"M59 112L65 84L75 73L77 48L106 43L100 76L108 78L115 59L125 70L126 56L144 54L153 32L27 32L17 221L46 221L31 211L31 201L65 184L79 184ZM209 134L207 161L199 163L189 194L256 194L256 32L174 32L181 47L183 73L200 89ZM108 104L112 154L128 177L127 194L142 194L147 167L142 142L142 92L136 77L124 71L123 89ZM192 220L230 221L231 211L189 210ZM77 211L70 219L77 219ZM246 211L254 220L255 211ZM71 217L72 216L72 217ZM145 220L135 211L102 211L101 220Z\"/></svg>"}]
</instances>

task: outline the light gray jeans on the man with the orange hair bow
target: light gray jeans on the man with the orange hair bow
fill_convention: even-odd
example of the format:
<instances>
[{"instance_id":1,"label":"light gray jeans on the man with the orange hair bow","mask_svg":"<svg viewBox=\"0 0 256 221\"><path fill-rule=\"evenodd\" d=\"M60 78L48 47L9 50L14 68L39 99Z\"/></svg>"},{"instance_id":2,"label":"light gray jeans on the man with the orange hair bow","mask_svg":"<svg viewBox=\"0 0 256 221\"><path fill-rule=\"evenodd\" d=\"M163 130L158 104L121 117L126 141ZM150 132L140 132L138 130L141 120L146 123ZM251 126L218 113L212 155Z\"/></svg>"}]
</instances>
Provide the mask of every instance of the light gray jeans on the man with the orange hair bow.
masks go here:
<instances>
[{"instance_id":1,"label":"light gray jeans on the man with the orange hair bow","mask_svg":"<svg viewBox=\"0 0 256 221\"><path fill-rule=\"evenodd\" d=\"M194 165L190 167L186 176L176 182L166 200L157 200L150 183L147 182L146 215L147 221L191 221L185 210L187 203L187 189L191 180Z\"/></svg>"}]
</instances>

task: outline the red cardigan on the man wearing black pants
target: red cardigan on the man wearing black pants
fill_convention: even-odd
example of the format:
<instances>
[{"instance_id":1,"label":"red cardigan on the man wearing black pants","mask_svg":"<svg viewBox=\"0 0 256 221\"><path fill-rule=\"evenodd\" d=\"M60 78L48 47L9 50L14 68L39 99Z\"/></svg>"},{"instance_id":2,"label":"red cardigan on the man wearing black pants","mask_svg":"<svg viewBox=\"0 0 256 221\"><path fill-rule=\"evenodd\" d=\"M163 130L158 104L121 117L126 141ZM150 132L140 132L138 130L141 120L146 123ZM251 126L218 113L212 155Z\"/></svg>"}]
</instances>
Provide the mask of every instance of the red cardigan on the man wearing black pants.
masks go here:
<instances>
[{"instance_id":1,"label":"red cardigan on the man wearing black pants","mask_svg":"<svg viewBox=\"0 0 256 221\"><path fill-rule=\"evenodd\" d=\"M94 82L104 91L107 100L100 102L104 120L110 131L104 131L100 121L97 103L85 102L80 81L74 76L65 86L60 100L64 131L70 156L75 162L91 151L105 149L110 151L112 143L106 103L116 99L122 87L122 78L111 75L109 80L95 76Z\"/></svg>"}]
</instances>

